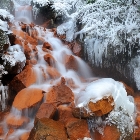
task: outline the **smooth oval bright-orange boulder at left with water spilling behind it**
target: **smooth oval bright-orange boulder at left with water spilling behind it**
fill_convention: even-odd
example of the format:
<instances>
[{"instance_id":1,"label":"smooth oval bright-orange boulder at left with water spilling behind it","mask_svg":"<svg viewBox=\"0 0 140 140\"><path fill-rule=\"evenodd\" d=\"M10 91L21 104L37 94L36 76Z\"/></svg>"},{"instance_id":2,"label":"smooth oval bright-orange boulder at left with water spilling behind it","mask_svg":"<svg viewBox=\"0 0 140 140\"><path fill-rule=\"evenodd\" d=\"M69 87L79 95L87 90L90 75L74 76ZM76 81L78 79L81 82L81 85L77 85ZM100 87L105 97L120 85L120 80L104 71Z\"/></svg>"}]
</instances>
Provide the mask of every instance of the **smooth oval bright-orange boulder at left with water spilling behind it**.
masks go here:
<instances>
[{"instance_id":1,"label":"smooth oval bright-orange boulder at left with water spilling behind it","mask_svg":"<svg viewBox=\"0 0 140 140\"><path fill-rule=\"evenodd\" d=\"M15 97L13 106L18 110L23 110L35 106L43 98L42 90L37 88L25 88Z\"/></svg>"}]
</instances>

